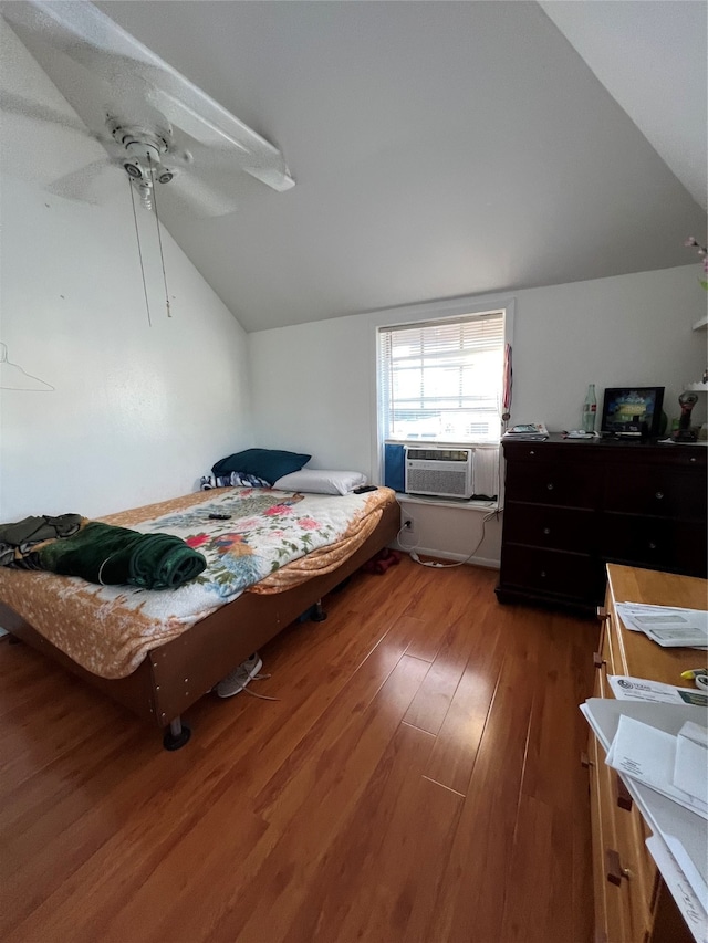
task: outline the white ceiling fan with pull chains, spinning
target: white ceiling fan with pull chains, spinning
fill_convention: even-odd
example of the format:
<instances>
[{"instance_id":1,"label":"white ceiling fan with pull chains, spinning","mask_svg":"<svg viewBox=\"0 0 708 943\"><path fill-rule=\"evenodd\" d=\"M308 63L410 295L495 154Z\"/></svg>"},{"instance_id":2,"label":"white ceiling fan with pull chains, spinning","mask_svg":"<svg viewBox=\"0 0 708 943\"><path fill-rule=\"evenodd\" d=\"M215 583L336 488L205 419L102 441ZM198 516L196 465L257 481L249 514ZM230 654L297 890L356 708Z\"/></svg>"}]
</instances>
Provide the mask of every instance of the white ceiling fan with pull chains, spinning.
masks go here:
<instances>
[{"instance_id":1,"label":"white ceiling fan with pull chains, spinning","mask_svg":"<svg viewBox=\"0 0 708 943\"><path fill-rule=\"evenodd\" d=\"M278 148L92 3L28 0L1 9L82 121L7 88L0 109L67 128L107 151L55 180L52 192L91 201L95 181L106 171L115 179L118 168L147 209L162 185L177 206L214 217L236 209L242 174L277 191L294 186Z\"/></svg>"}]
</instances>

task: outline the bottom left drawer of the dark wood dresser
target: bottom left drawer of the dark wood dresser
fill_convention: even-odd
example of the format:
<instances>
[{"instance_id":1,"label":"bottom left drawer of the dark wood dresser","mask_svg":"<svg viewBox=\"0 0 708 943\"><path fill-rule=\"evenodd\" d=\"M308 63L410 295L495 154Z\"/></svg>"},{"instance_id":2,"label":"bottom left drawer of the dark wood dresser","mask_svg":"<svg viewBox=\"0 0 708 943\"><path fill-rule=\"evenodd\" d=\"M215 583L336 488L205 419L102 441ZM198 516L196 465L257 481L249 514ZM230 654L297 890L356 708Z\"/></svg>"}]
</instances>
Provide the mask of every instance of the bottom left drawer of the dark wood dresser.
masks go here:
<instances>
[{"instance_id":1,"label":"bottom left drawer of the dark wood dresser","mask_svg":"<svg viewBox=\"0 0 708 943\"><path fill-rule=\"evenodd\" d=\"M501 583L541 596L602 598L602 569L582 554L507 544L501 553Z\"/></svg>"}]
</instances>

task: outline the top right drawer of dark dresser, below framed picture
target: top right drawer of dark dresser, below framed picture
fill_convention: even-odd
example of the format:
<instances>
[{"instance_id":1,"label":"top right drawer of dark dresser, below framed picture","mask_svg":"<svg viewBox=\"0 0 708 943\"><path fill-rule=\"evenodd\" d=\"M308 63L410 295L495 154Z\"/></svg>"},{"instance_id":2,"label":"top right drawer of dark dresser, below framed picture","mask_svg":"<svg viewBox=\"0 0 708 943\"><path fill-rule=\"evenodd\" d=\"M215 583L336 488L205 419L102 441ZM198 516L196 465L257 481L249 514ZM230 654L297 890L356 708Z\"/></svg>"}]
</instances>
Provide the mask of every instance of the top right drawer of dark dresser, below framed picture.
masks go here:
<instances>
[{"instance_id":1,"label":"top right drawer of dark dresser, below framed picture","mask_svg":"<svg viewBox=\"0 0 708 943\"><path fill-rule=\"evenodd\" d=\"M706 516L706 475L668 467L617 469L605 481L605 511L699 521Z\"/></svg>"}]
</instances>

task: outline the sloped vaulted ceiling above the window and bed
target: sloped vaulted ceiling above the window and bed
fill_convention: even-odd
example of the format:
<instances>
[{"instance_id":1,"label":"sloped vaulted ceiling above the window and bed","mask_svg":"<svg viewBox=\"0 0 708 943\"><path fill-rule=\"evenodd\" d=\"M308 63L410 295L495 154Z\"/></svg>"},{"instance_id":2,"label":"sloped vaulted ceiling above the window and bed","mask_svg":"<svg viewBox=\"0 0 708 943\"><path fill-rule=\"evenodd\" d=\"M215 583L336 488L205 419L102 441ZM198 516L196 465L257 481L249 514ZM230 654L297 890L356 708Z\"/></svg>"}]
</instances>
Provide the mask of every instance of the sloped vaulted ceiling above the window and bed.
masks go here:
<instances>
[{"instance_id":1,"label":"sloped vaulted ceiling above the window and bed","mask_svg":"<svg viewBox=\"0 0 708 943\"><path fill-rule=\"evenodd\" d=\"M162 213L248 331L697 261L702 0L96 6L285 156Z\"/></svg>"}]
</instances>

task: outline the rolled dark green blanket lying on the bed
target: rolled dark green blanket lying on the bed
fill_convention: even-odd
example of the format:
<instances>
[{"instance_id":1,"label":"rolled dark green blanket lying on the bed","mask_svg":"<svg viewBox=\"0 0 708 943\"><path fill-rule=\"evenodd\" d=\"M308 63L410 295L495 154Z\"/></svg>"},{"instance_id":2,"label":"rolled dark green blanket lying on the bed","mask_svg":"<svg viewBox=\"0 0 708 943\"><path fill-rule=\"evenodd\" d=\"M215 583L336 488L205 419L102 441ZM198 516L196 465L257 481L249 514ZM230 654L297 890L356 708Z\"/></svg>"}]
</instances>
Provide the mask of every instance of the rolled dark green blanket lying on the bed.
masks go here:
<instances>
[{"instance_id":1,"label":"rolled dark green blanket lying on the bed","mask_svg":"<svg viewBox=\"0 0 708 943\"><path fill-rule=\"evenodd\" d=\"M176 589L207 566L205 557L179 537L139 534L97 521L30 556L32 566L40 569L104 586L128 584L143 589Z\"/></svg>"}]
</instances>

